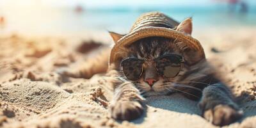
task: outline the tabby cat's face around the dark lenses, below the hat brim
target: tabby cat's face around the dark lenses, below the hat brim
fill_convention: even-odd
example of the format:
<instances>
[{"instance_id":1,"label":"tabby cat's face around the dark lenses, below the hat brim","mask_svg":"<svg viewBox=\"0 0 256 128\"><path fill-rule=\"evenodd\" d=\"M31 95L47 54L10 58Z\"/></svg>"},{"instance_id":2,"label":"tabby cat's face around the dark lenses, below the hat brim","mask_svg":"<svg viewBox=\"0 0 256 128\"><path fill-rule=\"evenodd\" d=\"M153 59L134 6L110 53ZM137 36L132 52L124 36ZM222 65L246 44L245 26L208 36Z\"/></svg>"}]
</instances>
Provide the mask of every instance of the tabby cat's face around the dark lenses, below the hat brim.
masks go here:
<instances>
[{"instance_id":1,"label":"tabby cat's face around the dark lenses, below the hat brim","mask_svg":"<svg viewBox=\"0 0 256 128\"><path fill-rule=\"evenodd\" d=\"M143 38L134 42L134 44L128 48L130 52L128 53L127 58L145 60L142 62L143 70L141 71L140 76L138 79L131 81L143 95L166 95L167 93L175 91L170 87L174 87L175 82L179 81L187 71L186 64L182 64L180 65L180 70L175 77L164 77L162 74L159 74L156 62L152 61L169 54L182 56L182 52L175 45L174 41L175 40L163 37ZM124 58L124 60L125 59L126 58ZM138 69L136 65L134 65L134 68ZM120 67L120 70L123 76L127 76L123 67ZM138 70L140 71L140 69ZM134 76L134 74L131 75ZM125 79L130 81L127 77L125 77Z\"/></svg>"}]
</instances>

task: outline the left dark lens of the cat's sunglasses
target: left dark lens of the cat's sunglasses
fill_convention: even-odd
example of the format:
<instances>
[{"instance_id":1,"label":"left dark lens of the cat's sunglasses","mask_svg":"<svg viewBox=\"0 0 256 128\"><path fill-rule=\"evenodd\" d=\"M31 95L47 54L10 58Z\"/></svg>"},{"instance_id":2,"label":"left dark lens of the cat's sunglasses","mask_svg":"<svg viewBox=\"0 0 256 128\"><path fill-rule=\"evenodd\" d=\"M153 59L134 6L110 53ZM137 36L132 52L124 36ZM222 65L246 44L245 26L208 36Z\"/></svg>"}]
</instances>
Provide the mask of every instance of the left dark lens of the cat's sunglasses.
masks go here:
<instances>
[{"instance_id":1,"label":"left dark lens of the cat's sunglasses","mask_svg":"<svg viewBox=\"0 0 256 128\"><path fill-rule=\"evenodd\" d=\"M138 80L141 76L143 61L136 58L127 58L121 63L125 76L132 80Z\"/></svg>"}]
</instances>

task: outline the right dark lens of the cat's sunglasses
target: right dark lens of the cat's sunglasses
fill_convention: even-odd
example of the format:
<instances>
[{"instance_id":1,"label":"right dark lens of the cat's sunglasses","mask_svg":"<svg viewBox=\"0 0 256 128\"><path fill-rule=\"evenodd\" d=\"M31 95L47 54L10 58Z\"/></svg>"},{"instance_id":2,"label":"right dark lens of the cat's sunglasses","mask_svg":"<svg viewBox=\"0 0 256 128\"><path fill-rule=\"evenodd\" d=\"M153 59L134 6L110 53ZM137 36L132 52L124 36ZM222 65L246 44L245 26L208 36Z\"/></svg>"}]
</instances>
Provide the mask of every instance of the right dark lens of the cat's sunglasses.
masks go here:
<instances>
[{"instance_id":1,"label":"right dark lens of the cat's sunglasses","mask_svg":"<svg viewBox=\"0 0 256 128\"><path fill-rule=\"evenodd\" d=\"M180 57L166 55L159 58L156 62L157 70L160 75L165 77L175 77L180 72Z\"/></svg>"}]
</instances>

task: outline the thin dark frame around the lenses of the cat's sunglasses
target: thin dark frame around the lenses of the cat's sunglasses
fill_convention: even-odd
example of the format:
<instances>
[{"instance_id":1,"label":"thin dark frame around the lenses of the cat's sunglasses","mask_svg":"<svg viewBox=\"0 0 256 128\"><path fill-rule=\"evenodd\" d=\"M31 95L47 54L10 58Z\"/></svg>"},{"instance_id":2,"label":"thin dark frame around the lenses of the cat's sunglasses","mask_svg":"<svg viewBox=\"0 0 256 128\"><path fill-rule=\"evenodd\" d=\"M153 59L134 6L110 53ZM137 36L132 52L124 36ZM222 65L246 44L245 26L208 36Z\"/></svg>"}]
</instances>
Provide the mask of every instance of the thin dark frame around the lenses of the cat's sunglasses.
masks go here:
<instances>
[{"instance_id":1,"label":"thin dark frame around the lenses of the cat's sunglasses","mask_svg":"<svg viewBox=\"0 0 256 128\"><path fill-rule=\"evenodd\" d=\"M120 66L123 67L123 65L124 65L123 62L124 62L125 60L136 59L136 60L143 61L143 65L144 65L145 61L154 61L154 63L155 63L154 66L155 66L155 68L156 68L156 61L157 61L157 60L160 60L161 58L164 58L165 56L176 56L176 57L178 57L178 58L179 58L179 63L180 63L180 69L182 68L183 63L185 62L184 57L183 57L183 56L180 56L179 54L164 54L164 55L159 56L158 58L155 58L155 59L152 59L152 60L141 60L141 59L134 58L134 57L125 58L124 60L121 61ZM143 66L143 65L142 65L140 77L141 77L141 75L143 74L143 71L144 71L144 66ZM159 76L166 77L166 76L164 76L164 75L160 75L159 70L158 70L157 68L156 68L156 70L157 70L157 73L159 74ZM179 70L179 72L180 72L180 70ZM177 75L179 74L179 72L177 73ZM125 74L124 74L124 75L125 75ZM173 77L176 77L177 75L175 75L175 76L173 76ZM126 76L126 75L125 75L125 76ZM126 76L126 77L127 77L127 76ZM138 77L138 79L140 79L140 77ZM127 78L128 78L128 77L127 77ZM168 78L170 78L170 77L168 77ZM138 80L138 79L137 79L137 80ZM134 80L134 81L135 81L135 80Z\"/></svg>"}]
</instances>

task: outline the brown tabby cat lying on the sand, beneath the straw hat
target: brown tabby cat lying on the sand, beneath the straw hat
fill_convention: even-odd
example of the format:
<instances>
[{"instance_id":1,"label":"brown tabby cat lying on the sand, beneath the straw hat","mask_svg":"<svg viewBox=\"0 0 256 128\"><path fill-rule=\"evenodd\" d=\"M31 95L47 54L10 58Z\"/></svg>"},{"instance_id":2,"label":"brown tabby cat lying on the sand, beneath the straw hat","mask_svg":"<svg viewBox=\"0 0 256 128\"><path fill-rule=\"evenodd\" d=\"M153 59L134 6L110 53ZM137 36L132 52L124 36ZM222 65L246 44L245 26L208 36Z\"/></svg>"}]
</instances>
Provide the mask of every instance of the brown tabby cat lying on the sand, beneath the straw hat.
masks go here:
<instances>
[{"instance_id":1,"label":"brown tabby cat lying on the sand, beneath the straw hat","mask_svg":"<svg viewBox=\"0 0 256 128\"><path fill-rule=\"evenodd\" d=\"M192 33L191 19L186 19L180 24L176 22L173 26L172 29L186 35ZM109 33L114 42L118 42L124 36ZM195 61L198 60L196 53L189 51L186 45L177 42L175 38L146 37L119 52L122 58L116 60L113 65L109 65L106 73L106 76L115 79L112 81L114 97L109 106L112 118L116 120L139 118L145 108L143 101L146 97L171 93L181 93L189 99L198 100L202 116L214 125L228 125L243 116L243 112L234 102L232 93L216 70L205 59ZM179 70L177 74L164 73L174 77L163 77L163 74L159 74L161 68L156 66L161 63L158 65L153 60L163 58L160 60L166 61L163 56L168 56L170 60L183 59L176 59L179 62L178 68L177 65L171 67ZM143 69L142 64L137 62L143 63ZM99 65L99 61L95 63ZM124 65L126 65L125 68Z\"/></svg>"}]
</instances>

